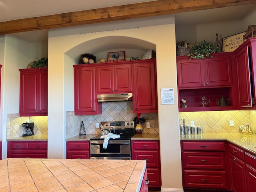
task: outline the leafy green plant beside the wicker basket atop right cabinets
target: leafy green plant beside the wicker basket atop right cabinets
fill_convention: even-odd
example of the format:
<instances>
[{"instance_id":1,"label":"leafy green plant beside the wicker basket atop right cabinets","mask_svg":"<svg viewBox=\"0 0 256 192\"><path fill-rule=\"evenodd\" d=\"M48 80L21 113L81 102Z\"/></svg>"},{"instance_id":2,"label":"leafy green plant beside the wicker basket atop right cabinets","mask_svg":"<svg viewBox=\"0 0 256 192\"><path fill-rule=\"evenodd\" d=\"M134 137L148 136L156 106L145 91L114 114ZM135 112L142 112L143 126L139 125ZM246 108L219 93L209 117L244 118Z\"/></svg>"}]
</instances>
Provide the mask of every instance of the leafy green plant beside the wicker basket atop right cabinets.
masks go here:
<instances>
[{"instance_id":1,"label":"leafy green plant beside the wicker basket atop right cabinets","mask_svg":"<svg viewBox=\"0 0 256 192\"><path fill-rule=\"evenodd\" d=\"M210 56L210 54L216 53L217 50L218 48L214 45L213 42L203 40L192 46L188 57L190 57L190 60L205 59L206 57L213 58L213 56Z\"/></svg>"}]
</instances>

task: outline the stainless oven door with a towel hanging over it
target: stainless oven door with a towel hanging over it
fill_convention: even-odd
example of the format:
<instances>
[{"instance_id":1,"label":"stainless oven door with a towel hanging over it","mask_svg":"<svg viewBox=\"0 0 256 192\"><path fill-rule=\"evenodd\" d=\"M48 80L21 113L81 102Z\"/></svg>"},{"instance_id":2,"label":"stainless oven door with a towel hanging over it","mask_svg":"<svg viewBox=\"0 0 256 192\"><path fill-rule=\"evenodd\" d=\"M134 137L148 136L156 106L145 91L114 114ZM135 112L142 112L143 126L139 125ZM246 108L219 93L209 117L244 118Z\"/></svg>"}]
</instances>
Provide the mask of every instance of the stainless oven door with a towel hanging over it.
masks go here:
<instances>
[{"instance_id":1,"label":"stainless oven door with a towel hanging over it","mask_svg":"<svg viewBox=\"0 0 256 192\"><path fill-rule=\"evenodd\" d=\"M103 148L104 140L90 141L91 157L131 157L130 140L109 140L106 149Z\"/></svg>"}]
</instances>

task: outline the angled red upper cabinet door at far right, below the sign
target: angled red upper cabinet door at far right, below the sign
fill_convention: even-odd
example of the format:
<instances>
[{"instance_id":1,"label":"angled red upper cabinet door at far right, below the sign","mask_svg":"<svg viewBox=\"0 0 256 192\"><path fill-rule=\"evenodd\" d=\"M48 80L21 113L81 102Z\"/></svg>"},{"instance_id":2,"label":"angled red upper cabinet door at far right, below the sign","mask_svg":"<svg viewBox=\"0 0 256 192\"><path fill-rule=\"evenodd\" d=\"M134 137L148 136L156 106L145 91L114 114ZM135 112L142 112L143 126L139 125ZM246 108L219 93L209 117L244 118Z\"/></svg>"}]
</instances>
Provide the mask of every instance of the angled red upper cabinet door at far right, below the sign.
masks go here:
<instances>
[{"instance_id":1,"label":"angled red upper cabinet door at far right, below the sign","mask_svg":"<svg viewBox=\"0 0 256 192\"><path fill-rule=\"evenodd\" d=\"M240 50L235 58L238 78L238 104L240 107L252 107L248 46Z\"/></svg>"}]
</instances>

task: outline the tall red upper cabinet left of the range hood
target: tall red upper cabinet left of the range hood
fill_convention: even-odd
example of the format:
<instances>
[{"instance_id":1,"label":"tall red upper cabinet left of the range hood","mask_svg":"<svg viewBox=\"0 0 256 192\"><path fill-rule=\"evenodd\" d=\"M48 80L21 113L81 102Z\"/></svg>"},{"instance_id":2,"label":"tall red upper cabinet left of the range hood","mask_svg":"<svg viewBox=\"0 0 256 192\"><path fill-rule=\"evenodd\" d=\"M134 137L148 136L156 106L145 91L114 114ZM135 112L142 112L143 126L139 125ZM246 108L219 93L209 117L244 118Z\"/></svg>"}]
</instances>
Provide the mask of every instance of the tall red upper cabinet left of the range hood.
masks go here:
<instances>
[{"instance_id":1,"label":"tall red upper cabinet left of the range hood","mask_svg":"<svg viewBox=\"0 0 256 192\"><path fill-rule=\"evenodd\" d=\"M102 103L97 102L95 68L74 65L74 114L93 115L102 113Z\"/></svg>"}]
</instances>

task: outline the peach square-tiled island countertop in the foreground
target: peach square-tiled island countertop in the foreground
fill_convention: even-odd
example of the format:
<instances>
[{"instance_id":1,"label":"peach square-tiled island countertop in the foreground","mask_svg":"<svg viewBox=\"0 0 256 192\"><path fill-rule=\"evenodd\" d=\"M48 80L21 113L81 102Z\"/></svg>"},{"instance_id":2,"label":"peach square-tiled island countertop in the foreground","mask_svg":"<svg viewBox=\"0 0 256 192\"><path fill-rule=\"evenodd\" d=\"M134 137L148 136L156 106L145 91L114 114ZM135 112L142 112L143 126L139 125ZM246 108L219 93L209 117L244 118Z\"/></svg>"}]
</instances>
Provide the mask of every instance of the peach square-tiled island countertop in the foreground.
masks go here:
<instances>
[{"instance_id":1,"label":"peach square-tiled island countertop in the foreground","mask_svg":"<svg viewBox=\"0 0 256 192\"><path fill-rule=\"evenodd\" d=\"M145 160L0 160L0 191L139 192Z\"/></svg>"}]
</instances>

